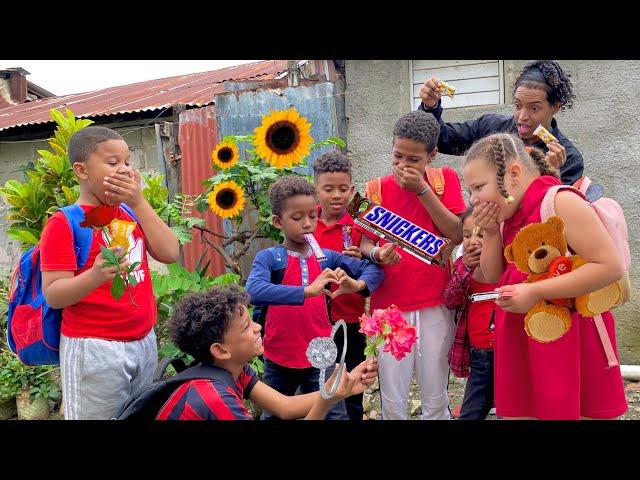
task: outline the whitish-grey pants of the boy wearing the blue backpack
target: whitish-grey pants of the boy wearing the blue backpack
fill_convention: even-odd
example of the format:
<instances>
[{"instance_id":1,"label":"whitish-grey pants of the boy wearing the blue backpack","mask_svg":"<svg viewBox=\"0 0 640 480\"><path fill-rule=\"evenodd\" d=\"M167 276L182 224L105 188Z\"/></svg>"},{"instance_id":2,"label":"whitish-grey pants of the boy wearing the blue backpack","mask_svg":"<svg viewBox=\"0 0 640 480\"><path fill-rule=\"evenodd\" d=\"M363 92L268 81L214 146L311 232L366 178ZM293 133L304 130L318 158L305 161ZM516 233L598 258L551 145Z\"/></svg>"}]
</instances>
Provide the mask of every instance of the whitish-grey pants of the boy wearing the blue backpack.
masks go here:
<instances>
[{"instance_id":1,"label":"whitish-grey pants of the boy wearing the blue backpack","mask_svg":"<svg viewBox=\"0 0 640 480\"><path fill-rule=\"evenodd\" d=\"M133 342L60 335L65 420L111 419L129 395L153 381L157 364L153 328Z\"/></svg>"}]
</instances>

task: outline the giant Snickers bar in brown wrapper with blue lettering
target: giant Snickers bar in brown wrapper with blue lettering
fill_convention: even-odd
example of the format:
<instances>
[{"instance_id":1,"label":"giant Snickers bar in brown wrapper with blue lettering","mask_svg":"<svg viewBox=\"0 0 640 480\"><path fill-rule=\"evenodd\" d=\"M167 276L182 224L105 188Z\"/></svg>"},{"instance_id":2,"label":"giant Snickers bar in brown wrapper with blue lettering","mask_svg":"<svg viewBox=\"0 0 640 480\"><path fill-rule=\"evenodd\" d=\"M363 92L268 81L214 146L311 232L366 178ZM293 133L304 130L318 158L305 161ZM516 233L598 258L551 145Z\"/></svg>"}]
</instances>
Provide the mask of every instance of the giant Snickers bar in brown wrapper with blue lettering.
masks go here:
<instances>
[{"instance_id":1,"label":"giant Snickers bar in brown wrapper with blue lettering","mask_svg":"<svg viewBox=\"0 0 640 480\"><path fill-rule=\"evenodd\" d=\"M347 211L354 222L428 264L444 264L453 244L356 193Z\"/></svg>"}]
</instances>

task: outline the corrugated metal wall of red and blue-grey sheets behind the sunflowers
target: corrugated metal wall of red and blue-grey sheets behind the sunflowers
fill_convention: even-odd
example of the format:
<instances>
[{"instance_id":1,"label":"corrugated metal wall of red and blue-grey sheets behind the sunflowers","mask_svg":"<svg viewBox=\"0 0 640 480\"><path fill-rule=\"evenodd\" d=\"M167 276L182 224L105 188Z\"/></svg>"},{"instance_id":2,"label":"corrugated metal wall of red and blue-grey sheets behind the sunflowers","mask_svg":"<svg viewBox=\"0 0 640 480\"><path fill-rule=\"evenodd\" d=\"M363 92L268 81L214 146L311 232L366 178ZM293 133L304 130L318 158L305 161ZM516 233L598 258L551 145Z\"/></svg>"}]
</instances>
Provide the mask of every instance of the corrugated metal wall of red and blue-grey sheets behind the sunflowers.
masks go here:
<instances>
[{"instance_id":1,"label":"corrugated metal wall of red and blue-grey sheets behind the sunflowers","mask_svg":"<svg viewBox=\"0 0 640 480\"><path fill-rule=\"evenodd\" d=\"M278 88L280 85L282 87ZM295 107L312 123L311 135L316 141L331 136L346 138L344 83L341 79L337 79L335 83L304 82L297 87L286 87L286 79L280 82L264 82L263 89L256 88L256 82L247 82L244 88L241 82L229 87L232 87L233 91L216 95L215 107L207 106L180 113L178 142L182 152L183 193L197 195L203 191L202 181L213 175L211 152L218 139L226 135L252 134L262 122L262 115L268 114L270 110ZM310 156L311 162L318 155L333 148L335 147L314 150ZM244 148L241 148L241 156L244 156ZM209 211L204 214L197 212L197 215L206 220L210 230L224 231L226 235L233 233L231 222L222 222ZM250 222L255 220L251 215L248 217L247 220ZM207 238L219 241L212 235L207 235ZM188 269L193 269L200 255L207 250L206 244L202 244L200 240L200 234L195 233L194 241L184 248L184 265ZM240 267L245 278L251 269L254 255L271 243L266 240L255 242L248 255L243 258ZM229 251L231 248L229 247ZM210 274L224 273L224 262L220 255L212 248L208 250L211 258Z\"/></svg>"}]
</instances>

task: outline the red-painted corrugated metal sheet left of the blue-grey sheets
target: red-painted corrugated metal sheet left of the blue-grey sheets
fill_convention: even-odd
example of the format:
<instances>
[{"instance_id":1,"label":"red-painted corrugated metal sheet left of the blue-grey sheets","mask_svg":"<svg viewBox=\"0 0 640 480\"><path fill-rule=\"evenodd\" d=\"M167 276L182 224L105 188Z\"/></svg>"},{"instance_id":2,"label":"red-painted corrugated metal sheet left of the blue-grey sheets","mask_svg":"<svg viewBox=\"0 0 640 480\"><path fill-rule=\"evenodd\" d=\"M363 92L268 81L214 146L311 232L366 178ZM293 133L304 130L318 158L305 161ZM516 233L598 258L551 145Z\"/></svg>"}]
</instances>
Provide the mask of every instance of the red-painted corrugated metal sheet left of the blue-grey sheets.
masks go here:
<instances>
[{"instance_id":1,"label":"red-painted corrugated metal sheet left of the blue-grey sheets","mask_svg":"<svg viewBox=\"0 0 640 480\"><path fill-rule=\"evenodd\" d=\"M182 152L182 192L199 195L204 190L202 181L213 175L211 152L218 142L215 107L194 108L180 113L180 130L178 144ZM222 232L220 218L207 210L204 213L193 209L193 216L204 218L206 227ZM225 272L224 262L213 248L202 242L200 233L193 230L193 241L184 246L184 266L193 270L203 252L209 250L207 258L211 260L210 275L221 275ZM213 235L207 235L212 242L219 242Z\"/></svg>"}]
</instances>

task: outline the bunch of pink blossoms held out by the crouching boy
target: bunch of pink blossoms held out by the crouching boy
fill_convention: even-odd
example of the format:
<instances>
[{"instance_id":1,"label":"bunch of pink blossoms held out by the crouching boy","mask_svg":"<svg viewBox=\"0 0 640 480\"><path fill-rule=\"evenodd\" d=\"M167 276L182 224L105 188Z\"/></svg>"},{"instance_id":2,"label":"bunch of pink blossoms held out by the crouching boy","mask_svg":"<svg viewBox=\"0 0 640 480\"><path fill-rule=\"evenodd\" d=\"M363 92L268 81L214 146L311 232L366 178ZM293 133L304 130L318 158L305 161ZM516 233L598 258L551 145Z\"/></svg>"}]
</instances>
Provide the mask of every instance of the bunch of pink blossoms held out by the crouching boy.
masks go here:
<instances>
[{"instance_id":1,"label":"bunch of pink blossoms held out by the crouching boy","mask_svg":"<svg viewBox=\"0 0 640 480\"><path fill-rule=\"evenodd\" d=\"M376 354L384 343L383 352L391 352L396 360L402 360L416 343L416 328L411 326L395 305L373 311L371 316L360 317L360 332L367 336L364 354Z\"/></svg>"}]
</instances>

